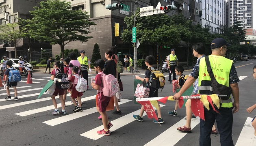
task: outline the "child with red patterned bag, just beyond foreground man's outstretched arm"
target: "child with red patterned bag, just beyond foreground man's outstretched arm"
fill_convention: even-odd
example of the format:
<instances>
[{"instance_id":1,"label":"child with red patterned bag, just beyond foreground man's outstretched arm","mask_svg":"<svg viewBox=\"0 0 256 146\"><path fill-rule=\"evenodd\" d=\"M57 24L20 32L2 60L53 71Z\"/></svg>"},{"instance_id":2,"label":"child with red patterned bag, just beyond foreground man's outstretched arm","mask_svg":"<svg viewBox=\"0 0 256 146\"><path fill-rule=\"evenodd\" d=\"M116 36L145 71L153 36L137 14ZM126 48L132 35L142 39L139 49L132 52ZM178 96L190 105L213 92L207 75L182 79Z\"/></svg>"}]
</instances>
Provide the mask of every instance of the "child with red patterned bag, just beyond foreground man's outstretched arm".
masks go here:
<instances>
[{"instance_id":1,"label":"child with red patterned bag, just beyond foreground man's outstretched arm","mask_svg":"<svg viewBox=\"0 0 256 146\"><path fill-rule=\"evenodd\" d=\"M174 69L175 69L176 75L179 75L178 85L179 85L179 88L181 88L185 82L184 80L185 75L182 74L184 69L181 65L176 66ZM170 114L171 116L178 116L178 113L177 113L178 107L179 107L179 101L176 100L174 111L168 112L168 114Z\"/></svg>"}]
</instances>

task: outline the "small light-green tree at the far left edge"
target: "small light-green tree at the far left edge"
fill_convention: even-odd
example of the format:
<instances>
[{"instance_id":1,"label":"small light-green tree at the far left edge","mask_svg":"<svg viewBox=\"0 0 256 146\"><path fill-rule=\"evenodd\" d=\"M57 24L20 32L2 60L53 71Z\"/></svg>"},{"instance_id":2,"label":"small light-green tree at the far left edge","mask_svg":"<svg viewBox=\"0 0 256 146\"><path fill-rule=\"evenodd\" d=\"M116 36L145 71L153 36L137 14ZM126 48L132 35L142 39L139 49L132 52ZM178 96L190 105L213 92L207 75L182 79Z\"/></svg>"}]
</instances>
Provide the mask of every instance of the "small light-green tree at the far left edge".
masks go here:
<instances>
[{"instance_id":1,"label":"small light-green tree at the far left edge","mask_svg":"<svg viewBox=\"0 0 256 146\"><path fill-rule=\"evenodd\" d=\"M15 58L17 58L17 45L20 43L24 34L19 29L19 24L2 24L0 25L0 38L13 44L15 48Z\"/></svg>"}]
</instances>

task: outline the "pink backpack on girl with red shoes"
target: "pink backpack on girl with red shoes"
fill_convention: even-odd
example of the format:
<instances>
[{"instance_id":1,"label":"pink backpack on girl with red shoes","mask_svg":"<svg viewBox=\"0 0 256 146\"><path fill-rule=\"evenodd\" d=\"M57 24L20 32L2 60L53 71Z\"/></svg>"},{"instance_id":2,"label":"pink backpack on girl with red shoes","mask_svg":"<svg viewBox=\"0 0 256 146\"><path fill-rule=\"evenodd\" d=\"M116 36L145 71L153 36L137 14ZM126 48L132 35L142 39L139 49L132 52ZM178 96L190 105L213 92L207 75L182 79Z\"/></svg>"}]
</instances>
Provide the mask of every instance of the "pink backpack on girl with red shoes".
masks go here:
<instances>
[{"instance_id":1,"label":"pink backpack on girl with red shoes","mask_svg":"<svg viewBox=\"0 0 256 146\"><path fill-rule=\"evenodd\" d=\"M100 72L99 74L103 76L103 88L102 88L103 95L106 97L112 97L114 94L118 92L117 79L115 78L115 76L111 74L106 75L103 72Z\"/></svg>"}]
</instances>

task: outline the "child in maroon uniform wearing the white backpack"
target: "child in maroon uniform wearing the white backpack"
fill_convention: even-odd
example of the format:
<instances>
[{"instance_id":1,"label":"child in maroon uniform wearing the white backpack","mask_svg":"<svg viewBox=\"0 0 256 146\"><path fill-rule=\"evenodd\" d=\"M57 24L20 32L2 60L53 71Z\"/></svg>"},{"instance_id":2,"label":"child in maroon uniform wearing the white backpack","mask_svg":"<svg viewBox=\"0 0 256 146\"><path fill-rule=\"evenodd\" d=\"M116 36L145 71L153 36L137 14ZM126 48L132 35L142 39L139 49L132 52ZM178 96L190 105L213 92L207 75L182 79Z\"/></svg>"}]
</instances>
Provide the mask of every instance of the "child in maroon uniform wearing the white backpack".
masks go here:
<instances>
[{"instance_id":1,"label":"child in maroon uniform wearing the white backpack","mask_svg":"<svg viewBox=\"0 0 256 146\"><path fill-rule=\"evenodd\" d=\"M79 73L78 73L78 71L79 71ZM73 112L82 112L82 108L81 108L81 105L82 105L81 104L82 103L82 101L81 101L82 92L78 92L76 90L76 85L77 85L77 82L78 82L78 78L74 76L74 75L76 75L76 76L79 77L81 75L81 73L82 73L82 71L81 71L81 69L79 69L79 67L77 67L77 66L72 67L72 74L73 75L72 75L72 77L70 79L70 83L69 83L69 88L68 89L70 89L71 86L73 86L73 89L71 91L71 100L73 101L73 103L75 105L75 108L74 108ZM75 99L78 101L78 105L77 105Z\"/></svg>"}]
</instances>

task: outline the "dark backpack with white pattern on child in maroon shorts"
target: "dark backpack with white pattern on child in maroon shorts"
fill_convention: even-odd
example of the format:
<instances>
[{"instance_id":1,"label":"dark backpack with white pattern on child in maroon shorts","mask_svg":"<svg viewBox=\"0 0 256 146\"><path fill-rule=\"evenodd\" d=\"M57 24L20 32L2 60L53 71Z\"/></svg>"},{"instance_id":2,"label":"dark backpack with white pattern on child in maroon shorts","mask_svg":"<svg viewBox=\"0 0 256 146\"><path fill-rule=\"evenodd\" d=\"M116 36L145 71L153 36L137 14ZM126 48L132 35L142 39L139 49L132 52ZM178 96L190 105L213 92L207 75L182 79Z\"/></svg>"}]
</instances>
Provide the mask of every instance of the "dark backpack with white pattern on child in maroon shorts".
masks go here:
<instances>
[{"instance_id":1,"label":"dark backpack with white pattern on child in maroon shorts","mask_svg":"<svg viewBox=\"0 0 256 146\"><path fill-rule=\"evenodd\" d=\"M61 72L59 69L55 69L59 71L59 73L56 74L55 78L57 78L56 86L60 89L67 89L69 88L69 80L67 78L67 74Z\"/></svg>"}]
</instances>

